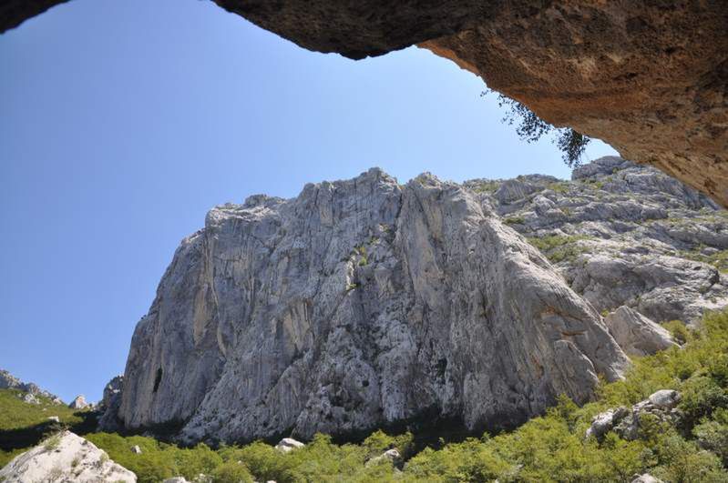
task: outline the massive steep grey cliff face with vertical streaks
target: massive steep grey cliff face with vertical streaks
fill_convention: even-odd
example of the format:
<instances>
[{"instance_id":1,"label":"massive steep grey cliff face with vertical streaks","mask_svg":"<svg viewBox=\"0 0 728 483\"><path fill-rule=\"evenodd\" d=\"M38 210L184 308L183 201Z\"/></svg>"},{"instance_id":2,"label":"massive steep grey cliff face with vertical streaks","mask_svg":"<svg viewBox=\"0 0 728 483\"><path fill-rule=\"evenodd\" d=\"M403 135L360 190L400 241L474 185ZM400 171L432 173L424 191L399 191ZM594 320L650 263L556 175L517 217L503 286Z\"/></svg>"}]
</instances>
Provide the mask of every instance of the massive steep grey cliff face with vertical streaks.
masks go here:
<instances>
[{"instance_id":1,"label":"massive steep grey cliff face with vertical streaks","mask_svg":"<svg viewBox=\"0 0 728 483\"><path fill-rule=\"evenodd\" d=\"M119 418L222 440L511 426L628 359L477 194L377 169L218 206L132 338Z\"/></svg>"}]
</instances>

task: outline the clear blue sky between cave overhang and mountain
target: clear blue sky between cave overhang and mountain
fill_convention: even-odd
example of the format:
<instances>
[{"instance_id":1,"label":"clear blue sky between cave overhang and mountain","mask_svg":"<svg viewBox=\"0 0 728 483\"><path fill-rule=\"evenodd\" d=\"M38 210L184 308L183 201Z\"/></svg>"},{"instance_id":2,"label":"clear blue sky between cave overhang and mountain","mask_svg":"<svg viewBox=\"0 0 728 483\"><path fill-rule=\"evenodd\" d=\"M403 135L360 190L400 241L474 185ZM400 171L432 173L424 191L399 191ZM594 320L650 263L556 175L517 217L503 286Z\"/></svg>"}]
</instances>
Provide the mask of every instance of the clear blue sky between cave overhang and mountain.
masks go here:
<instances>
[{"instance_id":1,"label":"clear blue sky between cave overhang and mountain","mask_svg":"<svg viewBox=\"0 0 728 483\"><path fill-rule=\"evenodd\" d=\"M73 0L0 35L0 367L98 399L211 206L371 166L568 177L483 88L425 50L314 54L198 0Z\"/></svg>"}]
</instances>

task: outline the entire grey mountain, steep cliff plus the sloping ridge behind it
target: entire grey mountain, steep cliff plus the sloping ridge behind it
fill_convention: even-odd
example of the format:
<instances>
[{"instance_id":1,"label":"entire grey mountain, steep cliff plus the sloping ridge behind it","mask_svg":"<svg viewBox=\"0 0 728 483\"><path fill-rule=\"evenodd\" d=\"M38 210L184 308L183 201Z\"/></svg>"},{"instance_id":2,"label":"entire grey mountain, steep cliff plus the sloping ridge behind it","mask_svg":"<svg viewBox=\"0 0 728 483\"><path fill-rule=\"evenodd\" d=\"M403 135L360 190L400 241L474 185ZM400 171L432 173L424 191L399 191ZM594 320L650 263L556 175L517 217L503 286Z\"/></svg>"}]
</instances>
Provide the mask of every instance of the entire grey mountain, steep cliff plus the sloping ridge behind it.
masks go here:
<instances>
[{"instance_id":1,"label":"entire grey mountain, steep cliff plus the sloping ridge behind it","mask_svg":"<svg viewBox=\"0 0 728 483\"><path fill-rule=\"evenodd\" d=\"M402 186L374 169L218 206L175 254L104 418L190 441L515 424L559 392L587 400L622 350L674 345L656 322L728 305L726 223L618 157L571 181Z\"/></svg>"}]
</instances>

